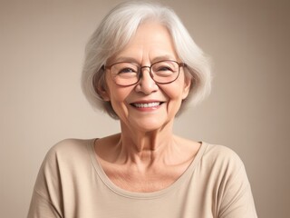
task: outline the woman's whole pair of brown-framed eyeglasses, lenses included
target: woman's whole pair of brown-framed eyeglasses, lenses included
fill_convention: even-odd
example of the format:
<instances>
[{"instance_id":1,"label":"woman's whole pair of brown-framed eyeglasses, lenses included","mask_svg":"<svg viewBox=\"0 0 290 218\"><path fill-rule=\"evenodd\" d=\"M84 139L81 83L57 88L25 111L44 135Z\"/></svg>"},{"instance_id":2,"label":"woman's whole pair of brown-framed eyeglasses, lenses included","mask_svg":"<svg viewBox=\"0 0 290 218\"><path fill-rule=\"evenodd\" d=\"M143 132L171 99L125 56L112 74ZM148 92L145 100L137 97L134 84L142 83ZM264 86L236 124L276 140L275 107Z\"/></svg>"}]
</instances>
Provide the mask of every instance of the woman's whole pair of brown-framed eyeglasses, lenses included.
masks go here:
<instances>
[{"instance_id":1,"label":"woman's whole pair of brown-framed eyeglasses, lenses included","mask_svg":"<svg viewBox=\"0 0 290 218\"><path fill-rule=\"evenodd\" d=\"M142 69L149 68L150 77L156 84L170 84L179 77L179 68L187 64L176 61L159 61L150 66L140 66L131 62L118 62L103 69L110 70L112 80L121 86L137 84L142 77Z\"/></svg>"}]
</instances>

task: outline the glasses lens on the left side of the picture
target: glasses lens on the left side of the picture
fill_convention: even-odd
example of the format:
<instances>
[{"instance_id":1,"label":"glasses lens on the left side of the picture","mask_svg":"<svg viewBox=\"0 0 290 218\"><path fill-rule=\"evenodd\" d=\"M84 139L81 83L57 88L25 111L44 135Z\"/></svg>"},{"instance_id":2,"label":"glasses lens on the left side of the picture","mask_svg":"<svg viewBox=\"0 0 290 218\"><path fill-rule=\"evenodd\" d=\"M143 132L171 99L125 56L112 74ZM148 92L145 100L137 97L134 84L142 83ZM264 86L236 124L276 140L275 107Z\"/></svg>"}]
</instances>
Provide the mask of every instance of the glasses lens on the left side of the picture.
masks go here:
<instances>
[{"instance_id":1,"label":"glasses lens on the left side of the picture","mask_svg":"<svg viewBox=\"0 0 290 218\"><path fill-rule=\"evenodd\" d=\"M111 75L116 84L130 85L138 82L140 67L132 63L118 63L111 66Z\"/></svg>"}]
</instances>

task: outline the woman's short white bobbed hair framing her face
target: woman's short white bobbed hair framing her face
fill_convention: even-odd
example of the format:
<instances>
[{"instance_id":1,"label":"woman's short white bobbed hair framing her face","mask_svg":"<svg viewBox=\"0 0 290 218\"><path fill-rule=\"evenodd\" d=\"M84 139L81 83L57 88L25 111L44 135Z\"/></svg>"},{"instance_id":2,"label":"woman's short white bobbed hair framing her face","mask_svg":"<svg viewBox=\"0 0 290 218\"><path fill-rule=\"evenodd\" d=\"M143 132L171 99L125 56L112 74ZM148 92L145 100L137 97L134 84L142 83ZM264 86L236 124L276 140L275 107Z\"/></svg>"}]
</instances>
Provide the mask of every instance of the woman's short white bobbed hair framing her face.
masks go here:
<instances>
[{"instance_id":1,"label":"woman's short white bobbed hair framing her face","mask_svg":"<svg viewBox=\"0 0 290 218\"><path fill-rule=\"evenodd\" d=\"M185 72L191 74L189 96L183 100L180 112L189 100L197 104L211 89L211 72L208 57L195 44L178 15L169 7L144 2L126 2L115 6L92 34L85 48L82 69L82 91L93 107L102 109L118 119L111 103L104 101L98 90L106 85L102 66L127 45L138 27L153 20L168 28L179 59L187 64Z\"/></svg>"}]
</instances>

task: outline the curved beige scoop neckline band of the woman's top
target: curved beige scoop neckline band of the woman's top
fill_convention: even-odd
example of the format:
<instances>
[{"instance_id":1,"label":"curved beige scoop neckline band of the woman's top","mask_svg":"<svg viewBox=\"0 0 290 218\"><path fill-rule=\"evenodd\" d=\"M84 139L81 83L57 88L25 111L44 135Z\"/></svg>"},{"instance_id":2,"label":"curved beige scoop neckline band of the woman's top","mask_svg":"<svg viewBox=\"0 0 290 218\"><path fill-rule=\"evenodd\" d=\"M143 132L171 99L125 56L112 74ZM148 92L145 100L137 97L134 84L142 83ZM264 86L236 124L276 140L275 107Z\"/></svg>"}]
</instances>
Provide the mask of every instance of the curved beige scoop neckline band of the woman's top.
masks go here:
<instances>
[{"instance_id":1,"label":"curved beige scoop neckline band of the woman's top","mask_svg":"<svg viewBox=\"0 0 290 218\"><path fill-rule=\"evenodd\" d=\"M194 172L196 166L198 165L203 154L205 153L206 147L207 147L206 143L200 142L201 144L200 144L200 147L198 149L198 153L196 154L196 157L189 164L189 167L187 168L187 170L184 173L182 173L179 176L179 179L177 179L174 183L170 184L168 187L161 189L159 191L149 192L149 193L140 193L140 192L131 192L131 191L122 189L121 187L119 187L115 183L111 182L111 179L108 177L108 175L102 169L102 165L97 159L97 154L95 154L95 151L94 151L95 140L97 140L97 139L92 139L89 142L88 148L89 148L89 152L90 152L92 165L94 167L95 172L97 173L99 178L102 180L102 183L104 183L109 189L111 189L112 192L114 192L118 195L121 195L123 197L134 198L134 199L158 198L161 195L164 195L166 193L169 193L169 192L179 188L179 186L182 185L182 183L184 183L190 177L190 175Z\"/></svg>"}]
</instances>

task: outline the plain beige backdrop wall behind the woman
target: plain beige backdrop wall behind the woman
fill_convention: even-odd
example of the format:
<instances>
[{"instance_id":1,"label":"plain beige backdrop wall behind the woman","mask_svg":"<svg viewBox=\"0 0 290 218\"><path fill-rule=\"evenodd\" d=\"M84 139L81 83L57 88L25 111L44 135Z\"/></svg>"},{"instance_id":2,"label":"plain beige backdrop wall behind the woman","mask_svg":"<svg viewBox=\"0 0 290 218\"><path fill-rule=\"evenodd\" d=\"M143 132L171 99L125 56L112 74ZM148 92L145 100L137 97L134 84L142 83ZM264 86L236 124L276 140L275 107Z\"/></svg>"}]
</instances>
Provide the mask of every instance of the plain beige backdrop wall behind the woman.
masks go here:
<instances>
[{"instance_id":1,"label":"plain beige backdrop wall behind the woman","mask_svg":"<svg viewBox=\"0 0 290 218\"><path fill-rule=\"evenodd\" d=\"M80 89L83 48L108 0L0 1L0 213L25 217L47 150L119 131ZM288 1L161 1L214 61L213 92L176 134L225 144L244 160L259 217L290 217Z\"/></svg>"}]
</instances>

